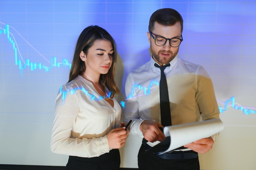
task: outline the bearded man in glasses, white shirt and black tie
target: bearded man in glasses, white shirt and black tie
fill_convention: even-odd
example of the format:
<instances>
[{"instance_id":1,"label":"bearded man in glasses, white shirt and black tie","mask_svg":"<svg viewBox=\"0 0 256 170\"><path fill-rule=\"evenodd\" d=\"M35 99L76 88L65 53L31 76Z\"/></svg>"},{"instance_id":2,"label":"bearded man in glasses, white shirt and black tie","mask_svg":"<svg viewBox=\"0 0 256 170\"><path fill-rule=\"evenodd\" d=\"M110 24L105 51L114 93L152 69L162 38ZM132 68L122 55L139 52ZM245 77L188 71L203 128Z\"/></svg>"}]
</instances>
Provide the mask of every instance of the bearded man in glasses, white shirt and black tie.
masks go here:
<instances>
[{"instance_id":1,"label":"bearded man in glasses, white shirt and black tie","mask_svg":"<svg viewBox=\"0 0 256 170\"><path fill-rule=\"evenodd\" d=\"M198 153L208 152L214 143L214 137L209 137L163 155L145 152L150 148L147 141L164 139L159 102L161 66L166 67L164 74L171 125L219 119L220 112L208 73L202 66L182 60L177 55L183 40L182 30L183 19L176 10L155 11L147 32L151 59L129 73L126 80L124 121L132 119L130 132L144 137L138 154L141 170L199 170Z\"/></svg>"}]
</instances>

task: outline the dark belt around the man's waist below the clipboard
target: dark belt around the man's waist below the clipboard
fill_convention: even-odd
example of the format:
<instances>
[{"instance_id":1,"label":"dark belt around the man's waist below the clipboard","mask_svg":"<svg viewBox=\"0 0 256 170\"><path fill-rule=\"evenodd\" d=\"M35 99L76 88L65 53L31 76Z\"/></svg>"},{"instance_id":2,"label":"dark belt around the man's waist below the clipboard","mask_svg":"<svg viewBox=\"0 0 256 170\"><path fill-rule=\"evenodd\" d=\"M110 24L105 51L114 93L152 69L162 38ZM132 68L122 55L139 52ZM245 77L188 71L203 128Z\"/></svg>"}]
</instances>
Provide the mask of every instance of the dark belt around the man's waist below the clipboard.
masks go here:
<instances>
[{"instance_id":1,"label":"dark belt around the man's waist below the clipboard","mask_svg":"<svg viewBox=\"0 0 256 170\"><path fill-rule=\"evenodd\" d=\"M150 149L152 148L151 146L149 146L148 144L144 143L146 149ZM193 151L193 150L189 150L189 151L173 151L171 153L163 153L163 154L159 154L159 152L153 153L155 156L162 158L162 159L193 159L193 158L198 158L198 153Z\"/></svg>"}]
</instances>

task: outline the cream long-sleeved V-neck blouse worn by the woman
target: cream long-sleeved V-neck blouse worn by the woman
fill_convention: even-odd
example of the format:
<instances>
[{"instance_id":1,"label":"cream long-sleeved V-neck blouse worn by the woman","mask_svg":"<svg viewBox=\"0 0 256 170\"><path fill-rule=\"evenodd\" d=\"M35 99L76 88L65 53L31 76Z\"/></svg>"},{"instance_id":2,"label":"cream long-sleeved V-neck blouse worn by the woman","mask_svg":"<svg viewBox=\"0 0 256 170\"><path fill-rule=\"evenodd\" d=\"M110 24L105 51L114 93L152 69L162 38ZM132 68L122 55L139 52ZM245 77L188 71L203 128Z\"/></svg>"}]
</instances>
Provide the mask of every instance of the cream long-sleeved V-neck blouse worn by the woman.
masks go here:
<instances>
[{"instance_id":1,"label":"cream long-sleeved V-neck blouse worn by the woman","mask_svg":"<svg viewBox=\"0 0 256 170\"><path fill-rule=\"evenodd\" d=\"M110 151L107 134L119 127L121 106L112 107L82 76L63 85L56 97L51 150L57 154L98 157Z\"/></svg>"}]
</instances>

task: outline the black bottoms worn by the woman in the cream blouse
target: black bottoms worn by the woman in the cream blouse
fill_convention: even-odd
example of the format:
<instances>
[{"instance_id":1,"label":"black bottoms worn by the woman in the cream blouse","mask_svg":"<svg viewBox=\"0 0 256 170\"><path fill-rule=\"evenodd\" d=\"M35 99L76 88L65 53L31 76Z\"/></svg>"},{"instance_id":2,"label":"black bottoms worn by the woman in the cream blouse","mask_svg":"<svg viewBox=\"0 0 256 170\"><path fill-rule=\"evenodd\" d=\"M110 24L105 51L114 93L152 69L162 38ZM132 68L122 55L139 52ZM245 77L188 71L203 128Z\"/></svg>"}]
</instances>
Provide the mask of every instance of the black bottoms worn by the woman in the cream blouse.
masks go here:
<instances>
[{"instance_id":1,"label":"black bottoms worn by the woman in the cream blouse","mask_svg":"<svg viewBox=\"0 0 256 170\"><path fill-rule=\"evenodd\" d=\"M66 170L119 170L120 153L112 149L99 157L83 158L70 156Z\"/></svg>"}]
</instances>

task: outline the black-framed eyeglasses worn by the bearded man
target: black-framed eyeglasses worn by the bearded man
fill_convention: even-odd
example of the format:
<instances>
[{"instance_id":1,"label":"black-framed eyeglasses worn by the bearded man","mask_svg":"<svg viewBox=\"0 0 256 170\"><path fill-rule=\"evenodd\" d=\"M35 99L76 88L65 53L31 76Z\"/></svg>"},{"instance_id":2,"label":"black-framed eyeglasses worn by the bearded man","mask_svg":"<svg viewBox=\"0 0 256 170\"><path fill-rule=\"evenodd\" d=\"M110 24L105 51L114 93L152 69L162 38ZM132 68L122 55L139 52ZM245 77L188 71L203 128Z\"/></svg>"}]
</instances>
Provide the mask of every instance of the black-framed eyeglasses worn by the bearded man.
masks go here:
<instances>
[{"instance_id":1,"label":"black-framed eyeglasses worn by the bearded man","mask_svg":"<svg viewBox=\"0 0 256 170\"><path fill-rule=\"evenodd\" d=\"M154 37L151 31L148 31L150 33L150 35L153 37L153 39L155 40L155 44L157 46L164 46L167 42L167 40L169 40L170 46L172 47L178 47L180 46L180 43L183 41L182 35L181 35L181 39L180 38L164 38L162 36L160 37ZM155 35L155 34L154 34Z\"/></svg>"}]
</instances>

